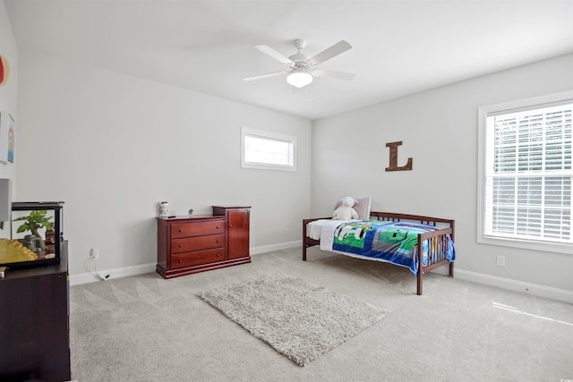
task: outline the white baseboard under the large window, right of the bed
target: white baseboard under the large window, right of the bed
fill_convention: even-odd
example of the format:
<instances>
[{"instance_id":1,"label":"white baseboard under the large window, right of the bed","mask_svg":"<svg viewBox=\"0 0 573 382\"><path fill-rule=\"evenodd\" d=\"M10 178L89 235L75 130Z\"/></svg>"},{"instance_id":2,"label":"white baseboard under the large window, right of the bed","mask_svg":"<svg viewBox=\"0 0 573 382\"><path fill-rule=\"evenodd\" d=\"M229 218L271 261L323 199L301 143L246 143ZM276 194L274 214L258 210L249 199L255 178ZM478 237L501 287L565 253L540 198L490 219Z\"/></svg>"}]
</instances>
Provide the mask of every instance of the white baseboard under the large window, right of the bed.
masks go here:
<instances>
[{"instance_id":1,"label":"white baseboard under the large window, right of the bed","mask_svg":"<svg viewBox=\"0 0 573 382\"><path fill-rule=\"evenodd\" d=\"M454 270L454 277L461 280L471 281L477 284L485 284L501 289L507 289L513 292L533 294L535 296L544 297L546 299L573 303L573 291L553 288L552 286L531 284L523 281L512 280L510 278L485 275L482 273L472 272L459 268Z\"/></svg>"}]
</instances>

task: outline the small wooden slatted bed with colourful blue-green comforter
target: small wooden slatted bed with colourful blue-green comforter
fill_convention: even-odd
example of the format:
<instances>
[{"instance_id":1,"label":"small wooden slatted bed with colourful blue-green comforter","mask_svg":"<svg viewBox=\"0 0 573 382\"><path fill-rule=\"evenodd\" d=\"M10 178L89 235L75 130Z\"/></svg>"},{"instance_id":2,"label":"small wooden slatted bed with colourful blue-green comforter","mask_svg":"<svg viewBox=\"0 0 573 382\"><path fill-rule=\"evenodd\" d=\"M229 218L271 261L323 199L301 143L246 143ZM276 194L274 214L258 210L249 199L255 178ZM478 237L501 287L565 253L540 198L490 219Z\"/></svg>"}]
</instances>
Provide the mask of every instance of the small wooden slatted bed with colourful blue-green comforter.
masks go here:
<instances>
[{"instance_id":1,"label":"small wooden slatted bed with colourful blue-green comforter","mask_svg":"<svg viewBox=\"0 0 573 382\"><path fill-rule=\"evenodd\" d=\"M320 245L321 250L407 267L417 277L418 295L423 275L432 269L448 265L449 277L454 276L454 220L374 211L369 216L353 221L304 219L303 260L307 248Z\"/></svg>"}]
</instances>

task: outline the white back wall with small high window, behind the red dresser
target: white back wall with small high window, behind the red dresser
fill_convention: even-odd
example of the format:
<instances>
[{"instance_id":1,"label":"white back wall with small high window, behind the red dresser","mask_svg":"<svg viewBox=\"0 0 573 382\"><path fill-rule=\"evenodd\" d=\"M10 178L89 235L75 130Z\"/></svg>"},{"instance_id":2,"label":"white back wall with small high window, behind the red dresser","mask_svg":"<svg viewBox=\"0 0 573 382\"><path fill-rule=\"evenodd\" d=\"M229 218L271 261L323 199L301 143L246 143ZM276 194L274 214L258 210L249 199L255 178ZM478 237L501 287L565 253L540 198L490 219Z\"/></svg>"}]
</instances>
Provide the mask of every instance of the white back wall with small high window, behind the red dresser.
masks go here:
<instances>
[{"instance_id":1,"label":"white back wall with small high window, behind the red dresser","mask_svg":"<svg viewBox=\"0 0 573 382\"><path fill-rule=\"evenodd\" d=\"M21 52L20 73L18 200L64 200L72 275L92 247L101 270L155 263L161 200L251 205L254 251L300 240L310 121L45 55ZM296 136L298 171L241 169L242 125Z\"/></svg>"}]
</instances>

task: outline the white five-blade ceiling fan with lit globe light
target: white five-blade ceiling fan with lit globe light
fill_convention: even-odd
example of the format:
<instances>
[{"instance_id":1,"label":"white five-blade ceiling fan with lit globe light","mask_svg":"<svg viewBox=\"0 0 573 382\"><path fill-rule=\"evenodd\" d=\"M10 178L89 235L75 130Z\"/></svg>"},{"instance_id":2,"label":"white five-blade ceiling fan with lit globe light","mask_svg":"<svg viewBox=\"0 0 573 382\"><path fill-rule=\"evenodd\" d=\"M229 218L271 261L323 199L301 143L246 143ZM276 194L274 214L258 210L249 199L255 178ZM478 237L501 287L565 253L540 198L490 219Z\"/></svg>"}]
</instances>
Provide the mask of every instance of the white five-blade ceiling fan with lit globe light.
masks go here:
<instances>
[{"instance_id":1,"label":"white five-blade ceiling fan with lit globe light","mask_svg":"<svg viewBox=\"0 0 573 382\"><path fill-rule=\"evenodd\" d=\"M255 48L259 49L262 53L269 55L275 60L285 64L289 70L246 77L243 79L243 81L260 80L267 77L288 74L286 77L286 82L296 88L303 88L312 82L313 77L326 77L344 81L350 81L355 78L355 74L353 73L335 72L326 69L315 68L316 65L322 64L330 58L340 55L341 53L344 53L346 50L350 49L352 46L345 40L338 41L338 43L334 44L332 47L324 49L321 53L314 55L313 57L303 53L303 49L306 47L306 41L304 39L295 39L295 47L298 52L295 53L295 55L286 57L285 55L278 53L272 47L266 45L255 46Z\"/></svg>"}]
</instances>

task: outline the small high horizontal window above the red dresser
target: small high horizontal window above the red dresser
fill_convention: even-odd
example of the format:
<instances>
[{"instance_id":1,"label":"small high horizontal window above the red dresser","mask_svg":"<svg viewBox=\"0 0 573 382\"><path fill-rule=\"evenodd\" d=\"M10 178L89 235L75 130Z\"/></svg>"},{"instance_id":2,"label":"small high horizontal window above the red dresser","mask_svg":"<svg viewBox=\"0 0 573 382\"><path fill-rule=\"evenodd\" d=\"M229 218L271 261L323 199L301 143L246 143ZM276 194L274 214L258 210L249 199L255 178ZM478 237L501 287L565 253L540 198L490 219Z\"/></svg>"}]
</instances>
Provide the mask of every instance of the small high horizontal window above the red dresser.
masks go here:
<instances>
[{"instance_id":1,"label":"small high horizontal window above the red dresser","mask_svg":"<svg viewBox=\"0 0 573 382\"><path fill-rule=\"evenodd\" d=\"M243 127L241 166L295 171L296 138Z\"/></svg>"}]
</instances>

